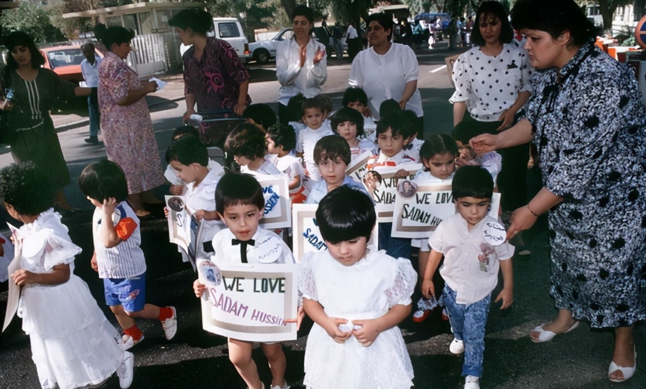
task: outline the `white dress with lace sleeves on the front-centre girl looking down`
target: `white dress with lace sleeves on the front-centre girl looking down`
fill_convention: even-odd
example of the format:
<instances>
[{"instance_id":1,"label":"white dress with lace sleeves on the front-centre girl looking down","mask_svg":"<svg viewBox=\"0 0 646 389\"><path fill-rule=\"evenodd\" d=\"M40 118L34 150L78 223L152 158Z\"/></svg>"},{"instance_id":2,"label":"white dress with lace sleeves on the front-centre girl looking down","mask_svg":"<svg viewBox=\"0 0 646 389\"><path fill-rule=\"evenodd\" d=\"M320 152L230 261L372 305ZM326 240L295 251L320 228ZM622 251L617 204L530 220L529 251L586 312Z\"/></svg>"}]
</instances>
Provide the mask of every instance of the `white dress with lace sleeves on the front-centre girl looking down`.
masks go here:
<instances>
[{"instance_id":1,"label":"white dress with lace sleeves on the front-centre girl looking down","mask_svg":"<svg viewBox=\"0 0 646 389\"><path fill-rule=\"evenodd\" d=\"M391 307L411 303L417 273L408 259L367 251L353 266L344 266L328 251L304 258L299 264L298 291L318 301L330 317L375 319ZM369 347L355 337L336 343L318 324L307 337L307 388L410 388L413 366L399 327L377 336Z\"/></svg>"}]
</instances>

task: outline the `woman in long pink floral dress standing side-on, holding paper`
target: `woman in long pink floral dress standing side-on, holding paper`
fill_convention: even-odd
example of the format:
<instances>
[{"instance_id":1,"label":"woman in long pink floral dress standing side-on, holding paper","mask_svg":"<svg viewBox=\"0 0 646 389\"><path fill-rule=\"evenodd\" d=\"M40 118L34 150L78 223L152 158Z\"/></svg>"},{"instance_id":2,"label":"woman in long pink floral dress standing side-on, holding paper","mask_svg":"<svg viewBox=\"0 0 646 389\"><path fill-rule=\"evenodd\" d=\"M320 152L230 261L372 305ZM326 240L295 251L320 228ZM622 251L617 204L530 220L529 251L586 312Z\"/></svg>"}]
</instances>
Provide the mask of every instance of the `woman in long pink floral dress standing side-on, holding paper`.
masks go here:
<instances>
[{"instance_id":1,"label":"woman in long pink floral dress standing side-on, holding paper","mask_svg":"<svg viewBox=\"0 0 646 389\"><path fill-rule=\"evenodd\" d=\"M141 83L125 63L134 34L120 26L96 26L94 33L108 52L99 65L99 106L105 152L128 181L129 201L138 217L151 217L144 203L159 204L152 190L164 183L157 141L145 95L157 83Z\"/></svg>"}]
</instances>

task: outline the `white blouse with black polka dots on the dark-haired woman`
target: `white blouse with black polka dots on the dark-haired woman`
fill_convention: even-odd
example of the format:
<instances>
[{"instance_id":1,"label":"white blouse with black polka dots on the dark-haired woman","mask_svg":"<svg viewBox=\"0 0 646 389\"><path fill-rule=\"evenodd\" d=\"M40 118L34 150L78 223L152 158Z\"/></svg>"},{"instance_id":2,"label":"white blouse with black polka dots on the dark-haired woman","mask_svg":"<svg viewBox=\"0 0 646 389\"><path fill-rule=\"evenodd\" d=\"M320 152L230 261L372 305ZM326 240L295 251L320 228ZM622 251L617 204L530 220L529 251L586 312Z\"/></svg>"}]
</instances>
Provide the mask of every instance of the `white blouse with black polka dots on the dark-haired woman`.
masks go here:
<instances>
[{"instance_id":1,"label":"white blouse with black polka dots on the dark-haired woman","mask_svg":"<svg viewBox=\"0 0 646 389\"><path fill-rule=\"evenodd\" d=\"M455 61L455 92L449 101L466 102L466 110L477 121L498 121L519 93L531 92L533 72L527 52L516 41L505 43L495 57L474 47Z\"/></svg>"}]
</instances>

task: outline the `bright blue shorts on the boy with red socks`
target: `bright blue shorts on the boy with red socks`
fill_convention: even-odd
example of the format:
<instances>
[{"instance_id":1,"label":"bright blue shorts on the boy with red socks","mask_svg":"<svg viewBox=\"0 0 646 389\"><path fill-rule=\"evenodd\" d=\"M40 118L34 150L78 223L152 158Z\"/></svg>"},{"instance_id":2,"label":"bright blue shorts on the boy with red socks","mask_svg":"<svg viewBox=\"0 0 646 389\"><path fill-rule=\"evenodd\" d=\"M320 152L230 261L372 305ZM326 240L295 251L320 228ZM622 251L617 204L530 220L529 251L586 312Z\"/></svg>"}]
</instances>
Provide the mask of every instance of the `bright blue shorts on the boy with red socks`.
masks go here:
<instances>
[{"instance_id":1,"label":"bright blue shorts on the boy with red socks","mask_svg":"<svg viewBox=\"0 0 646 389\"><path fill-rule=\"evenodd\" d=\"M128 312L139 312L146 303L146 273L132 278L104 278L105 303L123 306Z\"/></svg>"}]
</instances>

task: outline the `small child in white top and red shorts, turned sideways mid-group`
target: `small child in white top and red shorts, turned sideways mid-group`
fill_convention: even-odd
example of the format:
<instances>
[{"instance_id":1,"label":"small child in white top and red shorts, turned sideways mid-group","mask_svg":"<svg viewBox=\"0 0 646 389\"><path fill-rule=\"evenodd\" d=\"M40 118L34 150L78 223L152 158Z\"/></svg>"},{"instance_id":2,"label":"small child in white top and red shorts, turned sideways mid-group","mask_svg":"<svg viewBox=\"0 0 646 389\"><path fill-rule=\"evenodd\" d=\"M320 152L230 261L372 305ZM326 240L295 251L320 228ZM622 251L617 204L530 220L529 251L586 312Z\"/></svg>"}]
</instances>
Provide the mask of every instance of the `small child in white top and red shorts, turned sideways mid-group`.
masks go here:
<instances>
[{"instance_id":1,"label":"small child in white top and red shorts, turned sideways mid-group","mask_svg":"<svg viewBox=\"0 0 646 389\"><path fill-rule=\"evenodd\" d=\"M290 125L273 125L267 131L267 160L289 177L289 197L292 204L306 199L303 186L302 161L291 154L296 146L296 134Z\"/></svg>"}]
</instances>

